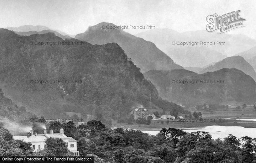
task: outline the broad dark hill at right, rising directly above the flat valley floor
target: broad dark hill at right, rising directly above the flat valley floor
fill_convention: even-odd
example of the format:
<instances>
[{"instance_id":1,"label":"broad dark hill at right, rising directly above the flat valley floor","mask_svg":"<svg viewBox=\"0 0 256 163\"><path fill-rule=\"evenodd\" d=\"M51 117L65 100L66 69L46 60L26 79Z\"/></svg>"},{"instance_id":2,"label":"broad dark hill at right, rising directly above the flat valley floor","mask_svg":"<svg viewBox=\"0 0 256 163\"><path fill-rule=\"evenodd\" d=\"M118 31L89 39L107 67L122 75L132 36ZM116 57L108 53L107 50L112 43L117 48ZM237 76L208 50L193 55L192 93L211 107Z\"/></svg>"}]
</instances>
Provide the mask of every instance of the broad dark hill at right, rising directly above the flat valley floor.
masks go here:
<instances>
[{"instance_id":1,"label":"broad dark hill at right, rising directly above the flat valley floor","mask_svg":"<svg viewBox=\"0 0 256 163\"><path fill-rule=\"evenodd\" d=\"M255 81L235 68L204 74L184 69L150 70L144 75L155 85L162 98L187 106L227 104L230 101L252 103L256 100ZM184 84L181 84L183 80ZM224 80L225 83L217 80Z\"/></svg>"}]
</instances>

